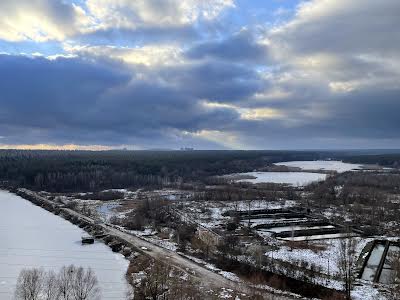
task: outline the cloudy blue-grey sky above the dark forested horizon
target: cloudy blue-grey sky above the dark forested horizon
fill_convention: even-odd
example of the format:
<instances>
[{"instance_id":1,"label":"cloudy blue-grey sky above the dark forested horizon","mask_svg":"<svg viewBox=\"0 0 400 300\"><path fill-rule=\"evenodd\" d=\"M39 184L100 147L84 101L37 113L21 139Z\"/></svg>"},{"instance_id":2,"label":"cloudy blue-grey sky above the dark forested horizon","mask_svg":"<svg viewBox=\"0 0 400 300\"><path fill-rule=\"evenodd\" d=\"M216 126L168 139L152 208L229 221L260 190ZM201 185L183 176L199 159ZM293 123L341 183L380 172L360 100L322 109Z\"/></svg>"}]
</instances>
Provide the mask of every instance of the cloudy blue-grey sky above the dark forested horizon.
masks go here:
<instances>
[{"instance_id":1,"label":"cloudy blue-grey sky above the dark forested horizon","mask_svg":"<svg viewBox=\"0 0 400 300\"><path fill-rule=\"evenodd\" d=\"M1 0L0 148L400 148L398 0Z\"/></svg>"}]
</instances>

